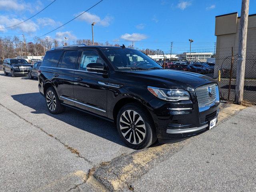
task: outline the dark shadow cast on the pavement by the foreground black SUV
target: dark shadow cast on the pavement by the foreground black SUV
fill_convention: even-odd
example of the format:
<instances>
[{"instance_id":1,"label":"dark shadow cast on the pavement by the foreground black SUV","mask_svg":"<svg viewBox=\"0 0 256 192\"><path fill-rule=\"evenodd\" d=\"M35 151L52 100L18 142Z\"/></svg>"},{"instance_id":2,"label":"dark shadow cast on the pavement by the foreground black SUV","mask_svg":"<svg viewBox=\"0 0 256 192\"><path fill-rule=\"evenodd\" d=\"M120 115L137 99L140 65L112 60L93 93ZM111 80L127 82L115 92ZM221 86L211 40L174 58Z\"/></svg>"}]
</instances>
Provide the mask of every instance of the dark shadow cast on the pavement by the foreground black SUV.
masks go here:
<instances>
[{"instance_id":1,"label":"dark shadow cast on the pavement by the foreground black SUV","mask_svg":"<svg viewBox=\"0 0 256 192\"><path fill-rule=\"evenodd\" d=\"M44 97L39 92L12 95L12 98L22 105L34 109L35 111L31 112L33 114L47 114L71 126L90 132L116 144L126 146L120 139L116 127L112 122L69 107L66 107L65 111L61 114L51 114L46 107Z\"/></svg>"}]
</instances>

